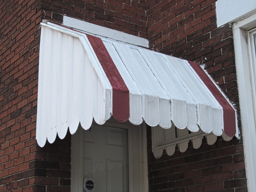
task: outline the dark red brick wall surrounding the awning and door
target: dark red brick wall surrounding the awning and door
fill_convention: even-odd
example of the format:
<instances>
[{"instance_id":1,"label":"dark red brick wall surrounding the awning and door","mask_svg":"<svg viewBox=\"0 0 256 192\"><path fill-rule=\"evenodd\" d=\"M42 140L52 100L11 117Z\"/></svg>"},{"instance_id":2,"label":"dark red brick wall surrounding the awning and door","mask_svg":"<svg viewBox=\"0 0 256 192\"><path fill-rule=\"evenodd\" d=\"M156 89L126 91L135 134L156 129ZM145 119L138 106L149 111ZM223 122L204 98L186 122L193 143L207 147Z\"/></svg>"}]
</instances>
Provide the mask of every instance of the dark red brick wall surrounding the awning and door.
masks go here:
<instances>
[{"instance_id":1,"label":"dark red brick wall surrounding the awning and door","mask_svg":"<svg viewBox=\"0 0 256 192\"><path fill-rule=\"evenodd\" d=\"M70 134L43 148L35 140L39 23L43 19L62 23L63 15L148 37L156 51L203 63L239 109L232 28L229 24L216 28L215 0L4 0L0 191L70 191ZM155 159L150 127L147 134L151 191L247 190L242 140L218 138L212 146L204 141L198 150L190 144L185 153Z\"/></svg>"}]
</instances>

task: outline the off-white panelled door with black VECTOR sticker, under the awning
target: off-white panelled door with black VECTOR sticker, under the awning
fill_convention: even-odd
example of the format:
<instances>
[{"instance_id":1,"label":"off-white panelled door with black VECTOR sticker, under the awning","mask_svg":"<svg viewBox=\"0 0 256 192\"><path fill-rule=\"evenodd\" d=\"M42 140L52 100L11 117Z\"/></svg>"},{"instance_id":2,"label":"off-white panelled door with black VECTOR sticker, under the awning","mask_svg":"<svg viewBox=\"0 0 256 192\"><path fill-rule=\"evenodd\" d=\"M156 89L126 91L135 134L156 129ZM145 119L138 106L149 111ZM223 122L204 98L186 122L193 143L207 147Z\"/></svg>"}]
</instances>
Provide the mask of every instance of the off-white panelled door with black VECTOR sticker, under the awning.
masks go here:
<instances>
[{"instance_id":1,"label":"off-white panelled door with black VECTOR sticker, under the awning","mask_svg":"<svg viewBox=\"0 0 256 192\"><path fill-rule=\"evenodd\" d=\"M128 192L127 129L92 125L83 143L83 191Z\"/></svg>"}]
</instances>

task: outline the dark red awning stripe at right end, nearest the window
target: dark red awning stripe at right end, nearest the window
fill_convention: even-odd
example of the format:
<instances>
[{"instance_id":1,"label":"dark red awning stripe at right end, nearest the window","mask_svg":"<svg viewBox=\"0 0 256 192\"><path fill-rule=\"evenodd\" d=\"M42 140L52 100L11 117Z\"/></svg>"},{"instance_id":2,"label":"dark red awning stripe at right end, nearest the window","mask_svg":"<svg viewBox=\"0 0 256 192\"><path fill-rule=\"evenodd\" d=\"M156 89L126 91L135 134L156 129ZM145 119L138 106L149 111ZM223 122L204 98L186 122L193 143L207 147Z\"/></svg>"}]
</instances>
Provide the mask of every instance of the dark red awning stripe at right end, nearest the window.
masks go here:
<instances>
[{"instance_id":1,"label":"dark red awning stripe at right end, nearest the window","mask_svg":"<svg viewBox=\"0 0 256 192\"><path fill-rule=\"evenodd\" d=\"M224 132L227 136L233 137L236 134L236 112L229 104L227 99L222 95L219 89L211 81L205 71L199 66L198 63L188 61L191 67L196 71L201 80L205 83L207 88L214 95L215 99L223 108L223 121L224 121Z\"/></svg>"}]
</instances>

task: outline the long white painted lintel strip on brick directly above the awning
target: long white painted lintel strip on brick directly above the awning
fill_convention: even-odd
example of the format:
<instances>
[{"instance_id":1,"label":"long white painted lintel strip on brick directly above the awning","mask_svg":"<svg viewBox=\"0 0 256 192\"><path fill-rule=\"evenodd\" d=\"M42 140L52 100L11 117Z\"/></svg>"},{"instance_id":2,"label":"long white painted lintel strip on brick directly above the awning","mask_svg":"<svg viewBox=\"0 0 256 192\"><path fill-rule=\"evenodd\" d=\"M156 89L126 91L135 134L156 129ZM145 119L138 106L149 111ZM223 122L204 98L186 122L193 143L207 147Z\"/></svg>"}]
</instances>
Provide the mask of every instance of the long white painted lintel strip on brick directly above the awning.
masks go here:
<instances>
[{"instance_id":1,"label":"long white painted lintel strip on brick directly above the awning","mask_svg":"<svg viewBox=\"0 0 256 192\"><path fill-rule=\"evenodd\" d=\"M108 37L114 40L148 48L148 39L131 35L128 33L124 33L122 31L103 27L100 25L88 23L86 21L82 21L79 19L74 19L68 16L63 16L63 25L66 25L75 29L79 29L82 31L86 31L87 33L100 35L100 36Z\"/></svg>"}]
</instances>

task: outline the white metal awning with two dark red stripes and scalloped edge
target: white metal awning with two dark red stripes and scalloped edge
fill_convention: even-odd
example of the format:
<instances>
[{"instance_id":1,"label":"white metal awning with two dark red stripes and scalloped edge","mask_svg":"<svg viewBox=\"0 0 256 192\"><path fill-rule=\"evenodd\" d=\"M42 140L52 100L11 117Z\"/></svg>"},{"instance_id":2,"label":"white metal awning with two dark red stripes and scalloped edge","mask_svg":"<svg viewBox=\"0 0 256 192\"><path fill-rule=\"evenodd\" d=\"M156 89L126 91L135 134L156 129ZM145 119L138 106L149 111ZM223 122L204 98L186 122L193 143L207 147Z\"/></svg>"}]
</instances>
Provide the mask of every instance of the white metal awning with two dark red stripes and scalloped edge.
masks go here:
<instances>
[{"instance_id":1,"label":"white metal awning with two dark red stripes and scalloped edge","mask_svg":"<svg viewBox=\"0 0 256 192\"><path fill-rule=\"evenodd\" d=\"M42 23L38 144L54 142L57 133L64 138L68 127L75 133L79 122L86 130L93 119L104 124L111 115L135 125L238 137L236 111L197 63Z\"/></svg>"}]
</instances>

